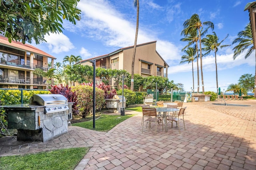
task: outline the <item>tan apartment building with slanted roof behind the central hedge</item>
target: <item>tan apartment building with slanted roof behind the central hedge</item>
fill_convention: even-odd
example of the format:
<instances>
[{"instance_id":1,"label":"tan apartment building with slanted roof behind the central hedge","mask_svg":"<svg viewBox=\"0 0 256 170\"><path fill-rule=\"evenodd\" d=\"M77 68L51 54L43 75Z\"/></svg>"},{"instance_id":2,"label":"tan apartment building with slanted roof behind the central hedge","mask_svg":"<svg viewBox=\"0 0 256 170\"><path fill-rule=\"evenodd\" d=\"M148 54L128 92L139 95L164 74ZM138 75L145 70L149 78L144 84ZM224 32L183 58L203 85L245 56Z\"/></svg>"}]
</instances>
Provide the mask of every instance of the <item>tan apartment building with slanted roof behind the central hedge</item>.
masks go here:
<instances>
[{"instance_id":1,"label":"tan apartment building with slanted roof behind the central hedge","mask_svg":"<svg viewBox=\"0 0 256 170\"><path fill-rule=\"evenodd\" d=\"M93 57L80 61L77 64L90 65L88 60L96 60L96 68L111 68L118 70L126 70L132 73L132 54L134 46L118 49L110 54ZM138 44L136 46L136 56L134 61L134 74L146 76L162 76L167 77L168 64L156 51L156 41ZM115 86L115 84L112 84Z\"/></svg>"}]
</instances>

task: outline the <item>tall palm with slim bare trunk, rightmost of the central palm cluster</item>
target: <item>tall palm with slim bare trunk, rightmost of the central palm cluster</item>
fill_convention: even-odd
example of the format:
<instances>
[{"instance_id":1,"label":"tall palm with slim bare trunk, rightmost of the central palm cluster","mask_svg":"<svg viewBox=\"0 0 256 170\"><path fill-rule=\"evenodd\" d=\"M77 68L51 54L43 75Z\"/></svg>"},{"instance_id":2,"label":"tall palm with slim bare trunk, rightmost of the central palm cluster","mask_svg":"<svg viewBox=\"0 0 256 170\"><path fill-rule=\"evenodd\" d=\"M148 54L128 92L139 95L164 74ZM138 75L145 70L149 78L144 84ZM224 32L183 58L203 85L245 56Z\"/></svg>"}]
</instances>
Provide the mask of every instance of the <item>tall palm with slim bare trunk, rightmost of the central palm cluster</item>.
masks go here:
<instances>
[{"instance_id":1,"label":"tall palm with slim bare trunk, rightmost of the central palm cluster","mask_svg":"<svg viewBox=\"0 0 256 170\"><path fill-rule=\"evenodd\" d=\"M215 68L216 68L216 85L217 85L217 93L219 92L219 87L218 87L218 72L217 72L217 58L216 58L216 53L218 51L218 47L222 49L223 47L229 47L230 45L220 45L227 37L222 39L222 41L219 41L219 37L217 37L215 32L212 32L212 35L206 35L206 38L202 39L202 43L205 46L202 50L206 51L204 55L208 55L211 51L214 51L215 53Z\"/></svg>"}]
</instances>

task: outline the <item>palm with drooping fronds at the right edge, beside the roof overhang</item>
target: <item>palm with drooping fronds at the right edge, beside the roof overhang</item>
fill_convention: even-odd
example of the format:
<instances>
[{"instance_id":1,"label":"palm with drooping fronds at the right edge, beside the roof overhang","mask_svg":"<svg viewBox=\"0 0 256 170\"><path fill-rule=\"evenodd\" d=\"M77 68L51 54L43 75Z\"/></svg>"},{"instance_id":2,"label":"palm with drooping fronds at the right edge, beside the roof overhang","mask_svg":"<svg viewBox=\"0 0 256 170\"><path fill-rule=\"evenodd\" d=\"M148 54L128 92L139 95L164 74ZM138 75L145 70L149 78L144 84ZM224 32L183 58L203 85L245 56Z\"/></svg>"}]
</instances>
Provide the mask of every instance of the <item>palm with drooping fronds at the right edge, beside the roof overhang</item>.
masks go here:
<instances>
[{"instance_id":1,"label":"palm with drooping fronds at the right edge, beside the roof overhang","mask_svg":"<svg viewBox=\"0 0 256 170\"><path fill-rule=\"evenodd\" d=\"M253 38L252 38L252 29L250 23L248 23L243 31L240 31L238 34L238 37L233 41L234 43L239 43L236 47L233 48L234 50L234 56L233 58L236 59L238 55L240 55L243 51L247 50L246 55L244 56L244 59L247 59L252 51L254 51L255 47L253 45ZM256 53L255 53L255 59L256 59ZM255 75L256 75L256 64L255 64ZM254 80L254 98L256 98L256 76Z\"/></svg>"}]
</instances>

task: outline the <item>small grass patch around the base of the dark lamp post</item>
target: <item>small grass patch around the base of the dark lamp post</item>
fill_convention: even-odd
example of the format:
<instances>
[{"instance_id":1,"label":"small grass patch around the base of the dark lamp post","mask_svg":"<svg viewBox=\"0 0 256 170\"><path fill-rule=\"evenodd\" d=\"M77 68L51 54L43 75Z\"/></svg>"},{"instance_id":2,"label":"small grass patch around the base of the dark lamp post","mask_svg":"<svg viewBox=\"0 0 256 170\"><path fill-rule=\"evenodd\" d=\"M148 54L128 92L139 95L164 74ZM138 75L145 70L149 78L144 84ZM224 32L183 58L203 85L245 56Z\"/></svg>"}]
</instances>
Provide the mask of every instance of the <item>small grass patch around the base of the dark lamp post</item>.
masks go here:
<instances>
[{"instance_id":1,"label":"small grass patch around the base of the dark lamp post","mask_svg":"<svg viewBox=\"0 0 256 170\"><path fill-rule=\"evenodd\" d=\"M107 132L122 121L132 117L134 115L102 115L99 119L95 120L95 129L93 129L93 121L84 121L80 123L72 123L72 126L79 126L86 129L92 129L95 131Z\"/></svg>"}]
</instances>

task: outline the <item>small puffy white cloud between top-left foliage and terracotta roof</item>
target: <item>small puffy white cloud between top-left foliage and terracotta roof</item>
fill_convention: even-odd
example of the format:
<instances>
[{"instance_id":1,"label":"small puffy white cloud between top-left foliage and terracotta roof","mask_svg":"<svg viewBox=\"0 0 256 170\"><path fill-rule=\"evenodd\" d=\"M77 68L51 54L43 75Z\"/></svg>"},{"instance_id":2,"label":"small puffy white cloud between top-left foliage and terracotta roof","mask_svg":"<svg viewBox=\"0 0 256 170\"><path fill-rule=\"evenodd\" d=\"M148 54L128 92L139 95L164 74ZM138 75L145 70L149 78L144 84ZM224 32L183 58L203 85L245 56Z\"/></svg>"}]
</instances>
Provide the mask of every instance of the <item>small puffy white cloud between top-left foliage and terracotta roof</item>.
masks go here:
<instances>
[{"instance_id":1,"label":"small puffy white cloud between top-left foliage and terracotta roof","mask_svg":"<svg viewBox=\"0 0 256 170\"><path fill-rule=\"evenodd\" d=\"M47 41L46 45L52 53L68 52L74 49L74 45L70 42L69 38L63 33L45 35L44 39Z\"/></svg>"}]
</instances>

